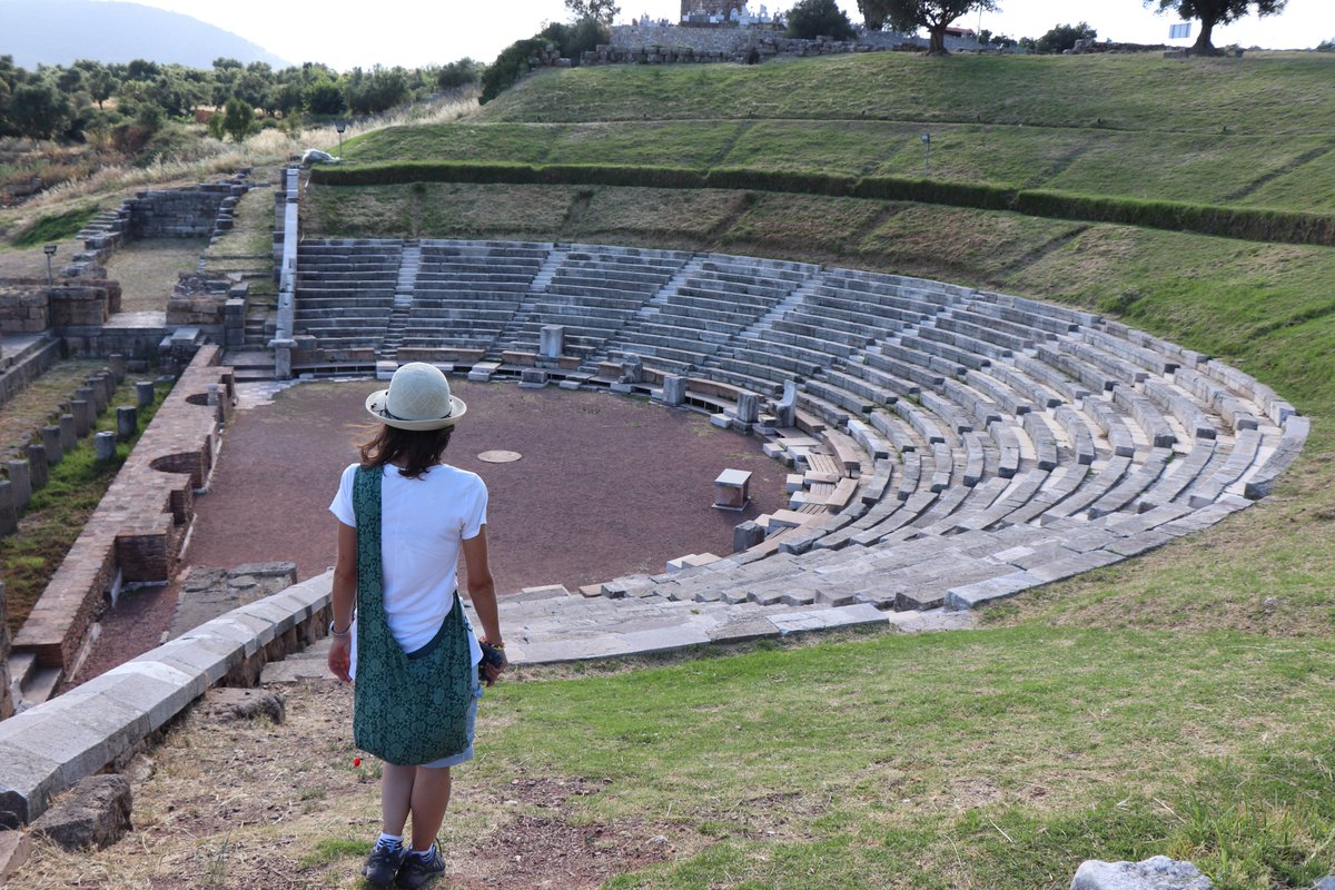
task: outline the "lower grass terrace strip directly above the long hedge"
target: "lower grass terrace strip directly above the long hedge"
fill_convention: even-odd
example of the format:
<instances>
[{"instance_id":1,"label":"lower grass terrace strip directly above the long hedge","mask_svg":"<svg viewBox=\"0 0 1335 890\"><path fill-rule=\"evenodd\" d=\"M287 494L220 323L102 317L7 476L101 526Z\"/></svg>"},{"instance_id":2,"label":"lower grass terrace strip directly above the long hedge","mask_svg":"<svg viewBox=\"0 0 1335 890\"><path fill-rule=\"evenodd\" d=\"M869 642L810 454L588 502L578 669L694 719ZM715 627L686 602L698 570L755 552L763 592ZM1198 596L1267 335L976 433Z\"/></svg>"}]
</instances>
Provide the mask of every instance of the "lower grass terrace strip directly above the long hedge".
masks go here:
<instances>
[{"instance_id":1,"label":"lower grass terrace strip directly above the long hedge","mask_svg":"<svg viewBox=\"0 0 1335 890\"><path fill-rule=\"evenodd\" d=\"M1330 136L1115 132L933 125L932 176L1013 188L1207 204L1330 209ZM470 160L750 168L920 176L922 125L909 121L617 121L441 124L378 131L350 160Z\"/></svg>"}]
</instances>

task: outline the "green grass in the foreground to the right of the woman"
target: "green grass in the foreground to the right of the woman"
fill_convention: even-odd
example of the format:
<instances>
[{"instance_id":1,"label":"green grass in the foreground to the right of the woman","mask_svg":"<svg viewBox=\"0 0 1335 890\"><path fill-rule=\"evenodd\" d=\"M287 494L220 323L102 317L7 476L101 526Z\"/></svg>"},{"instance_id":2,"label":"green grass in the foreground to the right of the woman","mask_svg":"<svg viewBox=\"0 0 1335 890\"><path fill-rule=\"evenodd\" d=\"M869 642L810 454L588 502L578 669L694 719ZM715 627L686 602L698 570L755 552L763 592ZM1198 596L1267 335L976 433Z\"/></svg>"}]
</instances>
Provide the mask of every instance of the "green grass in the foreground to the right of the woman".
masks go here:
<instances>
[{"instance_id":1,"label":"green grass in the foreground to the right of the woman","mask_svg":"<svg viewBox=\"0 0 1335 890\"><path fill-rule=\"evenodd\" d=\"M479 778L606 777L569 818L694 851L611 887L1065 887L1159 851L1307 886L1335 855L1331 654L1028 626L502 685Z\"/></svg>"}]
</instances>

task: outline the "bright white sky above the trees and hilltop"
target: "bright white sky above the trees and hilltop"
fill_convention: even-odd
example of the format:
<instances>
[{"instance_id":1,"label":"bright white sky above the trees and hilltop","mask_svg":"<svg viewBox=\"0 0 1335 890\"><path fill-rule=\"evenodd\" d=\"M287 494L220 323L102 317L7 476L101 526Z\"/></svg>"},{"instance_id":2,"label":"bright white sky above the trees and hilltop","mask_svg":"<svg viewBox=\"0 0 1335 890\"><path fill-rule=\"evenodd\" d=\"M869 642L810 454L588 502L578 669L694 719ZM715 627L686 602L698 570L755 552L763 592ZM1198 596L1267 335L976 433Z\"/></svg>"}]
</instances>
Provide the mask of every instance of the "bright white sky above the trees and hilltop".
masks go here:
<instances>
[{"instance_id":1,"label":"bright white sky above the trees and hilltop","mask_svg":"<svg viewBox=\"0 0 1335 890\"><path fill-rule=\"evenodd\" d=\"M546 21L562 21L562 0L370 0L332 3L298 0L138 0L144 5L195 16L252 40L292 63L323 61L339 71L355 65L418 67L473 56L495 59L510 43L531 36ZM740 0L738 0L740 1ZM621 0L622 16L649 13L676 21L680 0ZM856 23L856 0L838 0ZM769 11L793 0L769 4ZM1000 0L1000 12L983 15L983 27L1012 37L1037 37L1056 24L1088 21L1099 37L1133 43L1167 43L1176 16L1156 16L1140 0ZM760 11L752 0L752 11ZM977 28L979 16L956 24ZM1192 35L1199 24L1192 25ZM1215 31L1215 45L1275 49L1315 47L1335 37L1335 0L1288 0L1286 12ZM1188 41L1177 41L1188 43Z\"/></svg>"}]
</instances>

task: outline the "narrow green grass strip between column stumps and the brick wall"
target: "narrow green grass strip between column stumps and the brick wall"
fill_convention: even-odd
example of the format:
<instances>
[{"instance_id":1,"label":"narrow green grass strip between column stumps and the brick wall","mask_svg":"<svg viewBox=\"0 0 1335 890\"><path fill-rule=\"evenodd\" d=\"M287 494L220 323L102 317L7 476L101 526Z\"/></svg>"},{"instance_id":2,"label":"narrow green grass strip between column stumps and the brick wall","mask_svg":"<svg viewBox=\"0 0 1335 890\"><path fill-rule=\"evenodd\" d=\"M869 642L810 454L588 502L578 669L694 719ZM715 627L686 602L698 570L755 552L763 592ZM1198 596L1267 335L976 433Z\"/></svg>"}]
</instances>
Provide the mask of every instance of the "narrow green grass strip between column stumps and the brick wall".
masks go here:
<instances>
[{"instance_id":1,"label":"narrow green grass strip between column stumps and the brick wall","mask_svg":"<svg viewBox=\"0 0 1335 890\"><path fill-rule=\"evenodd\" d=\"M139 408L139 434L129 442L119 443L112 460L103 463L96 459L92 434L65 451L60 463L48 468L45 487L32 492L32 500L19 522L19 531L0 538L0 572L4 575L12 634L28 618L168 391L167 387L159 387L154 404ZM135 404L134 382L123 383L115 396L111 404ZM115 428L116 412L108 411L97 419L95 431Z\"/></svg>"}]
</instances>

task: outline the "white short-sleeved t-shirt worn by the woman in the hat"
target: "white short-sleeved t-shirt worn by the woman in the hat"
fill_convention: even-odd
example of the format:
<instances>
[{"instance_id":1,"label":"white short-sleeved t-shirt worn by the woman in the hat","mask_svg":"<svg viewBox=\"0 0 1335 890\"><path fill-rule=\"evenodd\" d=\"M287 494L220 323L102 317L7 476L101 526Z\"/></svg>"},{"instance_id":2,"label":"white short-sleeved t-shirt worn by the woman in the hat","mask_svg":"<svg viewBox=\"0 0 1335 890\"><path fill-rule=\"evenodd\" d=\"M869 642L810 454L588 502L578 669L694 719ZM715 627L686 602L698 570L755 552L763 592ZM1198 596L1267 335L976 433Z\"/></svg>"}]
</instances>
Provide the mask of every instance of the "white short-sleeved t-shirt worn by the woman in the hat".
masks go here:
<instances>
[{"instance_id":1,"label":"white short-sleeved t-shirt worn by the woman in the hat","mask_svg":"<svg viewBox=\"0 0 1335 890\"><path fill-rule=\"evenodd\" d=\"M350 464L330 504L339 522L356 527ZM461 542L477 538L487 522L487 487L467 470L438 464L419 479L386 466L380 482L380 558L384 614L390 632L403 651L422 648L454 606ZM465 614L467 623L467 614ZM354 619L354 630L356 622ZM352 670L356 670L356 634L352 634ZM482 650L469 624L473 663Z\"/></svg>"}]
</instances>

